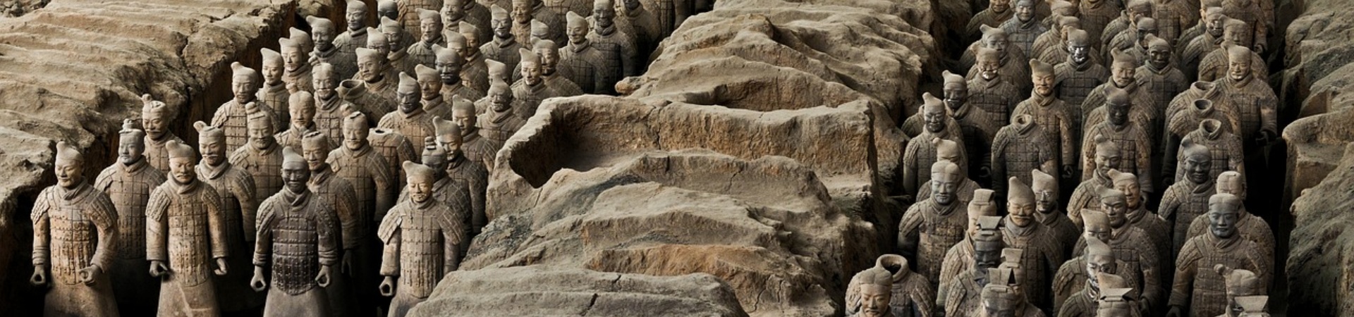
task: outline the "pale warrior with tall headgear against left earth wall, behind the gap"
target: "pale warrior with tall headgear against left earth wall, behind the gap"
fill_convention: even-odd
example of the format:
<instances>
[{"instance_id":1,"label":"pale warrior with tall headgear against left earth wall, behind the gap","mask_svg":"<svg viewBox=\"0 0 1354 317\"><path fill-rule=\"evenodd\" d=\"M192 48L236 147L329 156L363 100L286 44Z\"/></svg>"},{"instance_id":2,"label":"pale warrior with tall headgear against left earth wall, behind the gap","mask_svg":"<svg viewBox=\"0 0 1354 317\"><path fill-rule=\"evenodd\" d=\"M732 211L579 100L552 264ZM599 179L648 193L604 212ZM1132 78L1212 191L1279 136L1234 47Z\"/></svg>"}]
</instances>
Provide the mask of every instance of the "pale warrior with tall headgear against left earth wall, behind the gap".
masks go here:
<instances>
[{"instance_id":1,"label":"pale warrior with tall headgear against left earth wall, behind the gap","mask_svg":"<svg viewBox=\"0 0 1354 317\"><path fill-rule=\"evenodd\" d=\"M234 153L236 149L244 146L249 140L245 123L248 122L249 111L245 110L245 104L255 103L255 92L259 91L259 72L255 72L252 68L246 68L240 62L232 62L230 69L230 92L234 93L234 99L230 99L230 102L226 102L217 108L217 114L211 117L211 126L221 127L221 130L225 131L226 152ZM267 114L272 114L272 108L268 107L268 104L255 106ZM269 137L272 137L272 134L269 134Z\"/></svg>"}]
</instances>

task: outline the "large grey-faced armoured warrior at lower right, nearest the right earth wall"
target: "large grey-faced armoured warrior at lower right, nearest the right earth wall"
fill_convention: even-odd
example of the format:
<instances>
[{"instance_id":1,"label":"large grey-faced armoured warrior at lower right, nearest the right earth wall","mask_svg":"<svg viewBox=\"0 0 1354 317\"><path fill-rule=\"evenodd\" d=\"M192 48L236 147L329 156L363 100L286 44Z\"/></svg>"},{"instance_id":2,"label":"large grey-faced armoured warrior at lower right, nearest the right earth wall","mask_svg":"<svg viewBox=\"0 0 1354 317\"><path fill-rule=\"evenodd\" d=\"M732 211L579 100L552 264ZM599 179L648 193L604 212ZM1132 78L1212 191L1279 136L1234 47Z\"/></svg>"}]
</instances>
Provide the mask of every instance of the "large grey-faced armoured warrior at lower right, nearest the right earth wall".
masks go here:
<instances>
[{"instance_id":1,"label":"large grey-faced armoured warrior at lower right, nearest the right earth wall","mask_svg":"<svg viewBox=\"0 0 1354 317\"><path fill-rule=\"evenodd\" d=\"M1171 287L1167 317L1219 316L1227 308L1227 286L1219 264L1255 272L1259 289L1267 289L1271 268L1262 260L1261 248L1242 237L1236 228L1242 198L1216 194L1208 199L1209 233L1193 237L1175 259L1175 284Z\"/></svg>"}]
</instances>

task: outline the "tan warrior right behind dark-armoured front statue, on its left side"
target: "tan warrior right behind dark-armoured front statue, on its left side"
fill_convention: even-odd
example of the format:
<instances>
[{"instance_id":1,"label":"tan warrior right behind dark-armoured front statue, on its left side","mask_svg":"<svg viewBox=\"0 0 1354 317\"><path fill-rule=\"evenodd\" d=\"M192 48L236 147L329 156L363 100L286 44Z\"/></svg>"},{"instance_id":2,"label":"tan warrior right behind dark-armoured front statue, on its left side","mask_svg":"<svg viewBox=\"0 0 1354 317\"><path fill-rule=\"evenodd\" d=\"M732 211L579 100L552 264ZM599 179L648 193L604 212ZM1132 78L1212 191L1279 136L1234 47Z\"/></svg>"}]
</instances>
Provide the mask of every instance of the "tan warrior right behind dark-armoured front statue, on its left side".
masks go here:
<instances>
[{"instance_id":1,"label":"tan warrior right behind dark-armoured front statue, on its left side","mask_svg":"<svg viewBox=\"0 0 1354 317\"><path fill-rule=\"evenodd\" d=\"M255 192L259 196L272 195L282 190L282 146L274 138L274 119L257 103L245 104L249 108L249 142L230 153L230 165L244 169L255 179ZM230 130L226 141L230 141Z\"/></svg>"}]
</instances>

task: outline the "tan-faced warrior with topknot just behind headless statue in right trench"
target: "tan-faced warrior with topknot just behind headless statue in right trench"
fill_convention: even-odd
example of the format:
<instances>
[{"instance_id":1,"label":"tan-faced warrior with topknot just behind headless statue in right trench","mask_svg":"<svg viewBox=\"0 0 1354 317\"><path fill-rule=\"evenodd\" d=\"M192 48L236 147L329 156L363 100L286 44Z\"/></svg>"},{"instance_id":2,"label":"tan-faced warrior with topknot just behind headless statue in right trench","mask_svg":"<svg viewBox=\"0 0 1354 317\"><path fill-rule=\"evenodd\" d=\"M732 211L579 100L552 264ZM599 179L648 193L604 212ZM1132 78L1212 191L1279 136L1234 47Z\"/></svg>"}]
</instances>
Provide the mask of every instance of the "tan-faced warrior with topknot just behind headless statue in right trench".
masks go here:
<instances>
[{"instance_id":1,"label":"tan-faced warrior with topknot just behind headless statue in right trench","mask_svg":"<svg viewBox=\"0 0 1354 317\"><path fill-rule=\"evenodd\" d=\"M1048 172L1063 179L1072 179L1074 167L1079 158L1076 146L1082 138L1082 127L1078 125L1080 123L1080 107L1068 106L1055 95L1053 85L1057 83L1057 76L1053 73L1053 65L1029 60L1029 69L1034 89L1029 93L1029 99L1016 104L1011 118L1029 115L1034 125L1044 130L1047 145L1056 145L1052 146L1052 153L1057 160L1056 169Z\"/></svg>"}]
</instances>

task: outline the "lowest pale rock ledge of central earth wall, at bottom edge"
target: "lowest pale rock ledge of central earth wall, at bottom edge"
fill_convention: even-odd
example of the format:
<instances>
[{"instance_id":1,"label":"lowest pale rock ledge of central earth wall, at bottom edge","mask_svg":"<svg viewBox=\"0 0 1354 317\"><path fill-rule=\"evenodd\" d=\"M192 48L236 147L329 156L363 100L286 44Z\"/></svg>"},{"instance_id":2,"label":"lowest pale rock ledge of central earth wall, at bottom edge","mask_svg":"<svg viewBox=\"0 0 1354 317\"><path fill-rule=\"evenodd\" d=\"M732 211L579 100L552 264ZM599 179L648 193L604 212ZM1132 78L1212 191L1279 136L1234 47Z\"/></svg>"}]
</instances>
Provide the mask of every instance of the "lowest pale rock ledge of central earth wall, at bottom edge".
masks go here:
<instances>
[{"instance_id":1,"label":"lowest pale rock ledge of central earth wall, at bottom edge","mask_svg":"<svg viewBox=\"0 0 1354 317\"><path fill-rule=\"evenodd\" d=\"M410 317L747 316L723 280L707 274L647 276L544 266L456 271Z\"/></svg>"}]
</instances>

